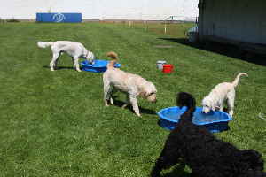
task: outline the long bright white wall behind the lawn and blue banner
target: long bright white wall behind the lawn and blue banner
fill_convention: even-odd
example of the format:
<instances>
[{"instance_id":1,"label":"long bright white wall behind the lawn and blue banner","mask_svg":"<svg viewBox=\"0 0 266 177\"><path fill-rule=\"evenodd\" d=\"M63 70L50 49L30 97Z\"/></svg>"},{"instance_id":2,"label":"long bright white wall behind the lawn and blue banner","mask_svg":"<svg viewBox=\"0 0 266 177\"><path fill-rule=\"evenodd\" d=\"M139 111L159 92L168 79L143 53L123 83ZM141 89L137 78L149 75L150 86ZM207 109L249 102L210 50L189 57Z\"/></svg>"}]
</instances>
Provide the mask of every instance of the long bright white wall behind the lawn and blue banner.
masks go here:
<instances>
[{"instance_id":1,"label":"long bright white wall behind the lawn and blue banner","mask_svg":"<svg viewBox=\"0 0 266 177\"><path fill-rule=\"evenodd\" d=\"M35 19L36 12L81 12L82 19L194 19L198 17L198 1L1 0L0 18Z\"/></svg>"}]
</instances>

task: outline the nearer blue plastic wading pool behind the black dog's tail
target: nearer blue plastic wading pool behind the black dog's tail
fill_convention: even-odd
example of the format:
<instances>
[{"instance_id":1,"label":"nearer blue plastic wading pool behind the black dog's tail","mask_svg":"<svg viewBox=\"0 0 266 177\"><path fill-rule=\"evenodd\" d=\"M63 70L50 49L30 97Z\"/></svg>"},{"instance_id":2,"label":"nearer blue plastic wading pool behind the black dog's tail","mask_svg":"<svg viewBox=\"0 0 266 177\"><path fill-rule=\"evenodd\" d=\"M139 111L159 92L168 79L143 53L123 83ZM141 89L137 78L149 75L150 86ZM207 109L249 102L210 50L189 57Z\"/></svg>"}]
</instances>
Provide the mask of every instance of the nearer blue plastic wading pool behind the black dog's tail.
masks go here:
<instances>
[{"instance_id":1,"label":"nearer blue plastic wading pool behind the black dog's tail","mask_svg":"<svg viewBox=\"0 0 266 177\"><path fill-rule=\"evenodd\" d=\"M182 109L179 107L169 107L160 110L157 114L160 117L160 127L168 130L173 130L180 116L187 108L184 106ZM232 120L231 116L226 112L209 112L203 113L202 107L197 107L193 114L192 123L196 125L203 125L212 133L222 132L229 129L228 122Z\"/></svg>"}]
</instances>

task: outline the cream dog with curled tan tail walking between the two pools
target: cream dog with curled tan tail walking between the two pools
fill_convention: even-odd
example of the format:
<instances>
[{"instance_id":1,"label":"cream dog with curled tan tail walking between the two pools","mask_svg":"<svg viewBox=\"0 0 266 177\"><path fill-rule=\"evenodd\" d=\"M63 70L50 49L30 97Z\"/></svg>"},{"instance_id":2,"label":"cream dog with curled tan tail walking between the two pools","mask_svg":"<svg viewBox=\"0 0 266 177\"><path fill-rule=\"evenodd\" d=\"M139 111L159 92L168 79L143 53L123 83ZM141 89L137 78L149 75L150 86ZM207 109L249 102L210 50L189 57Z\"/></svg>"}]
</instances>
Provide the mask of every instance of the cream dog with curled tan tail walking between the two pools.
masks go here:
<instances>
[{"instance_id":1,"label":"cream dog with curled tan tail walking between the two pools","mask_svg":"<svg viewBox=\"0 0 266 177\"><path fill-rule=\"evenodd\" d=\"M104 100L106 106L108 106L109 100L111 104L113 104L112 94L115 92L115 89L118 89L127 94L126 104L123 104L122 108L125 108L130 103L137 116L141 117L137 105L137 96L142 96L149 102L155 103L157 90L154 84L150 81L146 81L137 74L127 73L115 68L114 65L118 58L116 53L108 52L106 55L112 58L107 65L106 72L103 74Z\"/></svg>"}]
</instances>

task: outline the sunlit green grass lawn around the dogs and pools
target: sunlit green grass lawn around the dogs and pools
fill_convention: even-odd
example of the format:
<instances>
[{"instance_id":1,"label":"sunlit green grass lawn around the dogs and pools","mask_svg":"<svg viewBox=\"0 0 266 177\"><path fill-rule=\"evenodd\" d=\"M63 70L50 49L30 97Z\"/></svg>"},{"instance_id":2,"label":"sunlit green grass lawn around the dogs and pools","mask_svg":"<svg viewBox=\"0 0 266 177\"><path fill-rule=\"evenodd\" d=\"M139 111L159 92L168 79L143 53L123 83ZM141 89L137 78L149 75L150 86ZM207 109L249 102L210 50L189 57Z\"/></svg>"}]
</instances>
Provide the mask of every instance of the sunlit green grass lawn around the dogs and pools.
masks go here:
<instances>
[{"instance_id":1,"label":"sunlit green grass lawn around the dogs and pools","mask_svg":"<svg viewBox=\"0 0 266 177\"><path fill-rule=\"evenodd\" d=\"M184 30L176 33L184 38ZM175 36L120 24L1 24L0 176L147 176L169 134L154 112L174 106L179 91L192 93L200 105L217 83L239 72L249 77L237 88L231 129L216 135L266 160L266 121L258 118L266 115L265 66L161 39ZM142 118L105 107L101 73L75 72L66 54L61 68L50 71L51 50L36 42L57 40L82 42L98 58L117 52L122 70L153 81L157 104L138 99ZM160 73L155 64L161 59L175 72ZM125 99L116 96L116 104Z\"/></svg>"}]
</instances>

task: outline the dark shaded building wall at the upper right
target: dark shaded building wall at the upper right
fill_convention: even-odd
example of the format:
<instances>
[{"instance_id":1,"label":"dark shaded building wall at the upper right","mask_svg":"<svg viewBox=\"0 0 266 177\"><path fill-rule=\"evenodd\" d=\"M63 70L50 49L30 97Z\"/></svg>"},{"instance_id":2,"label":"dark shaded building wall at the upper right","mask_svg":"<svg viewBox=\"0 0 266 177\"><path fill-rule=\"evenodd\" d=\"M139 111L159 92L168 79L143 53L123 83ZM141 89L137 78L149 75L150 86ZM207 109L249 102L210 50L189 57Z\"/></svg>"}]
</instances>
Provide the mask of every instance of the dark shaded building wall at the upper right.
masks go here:
<instances>
[{"instance_id":1,"label":"dark shaded building wall at the upper right","mask_svg":"<svg viewBox=\"0 0 266 177\"><path fill-rule=\"evenodd\" d=\"M200 41L266 44L265 0L200 0Z\"/></svg>"}]
</instances>

